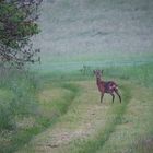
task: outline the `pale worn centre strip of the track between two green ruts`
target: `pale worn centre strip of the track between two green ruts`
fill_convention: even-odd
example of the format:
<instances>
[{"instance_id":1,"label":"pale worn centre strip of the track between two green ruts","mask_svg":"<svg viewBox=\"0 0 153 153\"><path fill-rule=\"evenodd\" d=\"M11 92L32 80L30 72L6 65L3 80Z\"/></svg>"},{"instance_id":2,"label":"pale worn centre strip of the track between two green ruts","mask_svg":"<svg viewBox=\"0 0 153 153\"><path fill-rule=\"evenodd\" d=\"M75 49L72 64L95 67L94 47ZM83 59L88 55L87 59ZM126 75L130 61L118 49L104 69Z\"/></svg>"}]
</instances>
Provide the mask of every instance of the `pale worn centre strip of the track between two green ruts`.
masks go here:
<instances>
[{"instance_id":1,"label":"pale worn centre strip of the track between two green ruts","mask_svg":"<svg viewBox=\"0 0 153 153\"><path fill-rule=\"evenodd\" d=\"M75 84L82 89L82 93L73 99L67 114L54 127L35 137L27 148L19 152L56 152L71 141L91 138L98 129L105 127L106 115L111 107L110 97L105 96L102 105L94 82L83 81ZM42 94L40 98L45 98L45 103L48 103L46 94L51 93L46 91Z\"/></svg>"}]
</instances>

